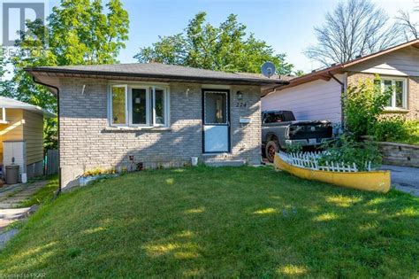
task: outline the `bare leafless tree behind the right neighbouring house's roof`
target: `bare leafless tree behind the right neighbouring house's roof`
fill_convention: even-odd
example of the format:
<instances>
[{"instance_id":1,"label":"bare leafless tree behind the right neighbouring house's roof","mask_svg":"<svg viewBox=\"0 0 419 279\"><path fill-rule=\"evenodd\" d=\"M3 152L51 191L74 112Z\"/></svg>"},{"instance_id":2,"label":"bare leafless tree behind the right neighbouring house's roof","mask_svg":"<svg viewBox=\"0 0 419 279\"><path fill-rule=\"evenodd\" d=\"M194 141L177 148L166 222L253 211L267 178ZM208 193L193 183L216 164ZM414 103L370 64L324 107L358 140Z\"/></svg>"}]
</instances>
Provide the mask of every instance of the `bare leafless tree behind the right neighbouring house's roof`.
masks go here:
<instances>
[{"instance_id":1,"label":"bare leafless tree behind the right neighbouring house's roof","mask_svg":"<svg viewBox=\"0 0 419 279\"><path fill-rule=\"evenodd\" d=\"M329 66L384 50L400 42L398 28L388 21L388 15L369 0L340 2L326 14L324 25L315 27L317 44L305 54Z\"/></svg>"}]
</instances>

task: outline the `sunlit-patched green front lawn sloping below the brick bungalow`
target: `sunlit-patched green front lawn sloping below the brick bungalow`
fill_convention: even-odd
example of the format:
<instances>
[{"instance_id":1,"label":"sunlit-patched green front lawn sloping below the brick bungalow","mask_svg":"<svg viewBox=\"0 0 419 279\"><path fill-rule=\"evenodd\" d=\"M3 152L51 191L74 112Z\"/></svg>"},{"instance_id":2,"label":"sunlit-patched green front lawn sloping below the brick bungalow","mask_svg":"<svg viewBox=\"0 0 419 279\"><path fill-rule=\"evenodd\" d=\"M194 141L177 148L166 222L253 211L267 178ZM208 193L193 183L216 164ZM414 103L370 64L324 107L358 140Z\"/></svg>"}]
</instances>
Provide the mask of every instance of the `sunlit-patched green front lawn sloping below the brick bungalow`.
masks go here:
<instances>
[{"instance_id":1,"label":"sunlit-patched green front lawn sloping below the brick bungalow","mask_svg":"<svg viewBox=\"0 0 419 279\"><path fill-rule=\"evenodd\" d=\"M270 167L144 171L65 193L0 254L0 275L416 277L419 199Z\"/></svg>"}]
</instances>

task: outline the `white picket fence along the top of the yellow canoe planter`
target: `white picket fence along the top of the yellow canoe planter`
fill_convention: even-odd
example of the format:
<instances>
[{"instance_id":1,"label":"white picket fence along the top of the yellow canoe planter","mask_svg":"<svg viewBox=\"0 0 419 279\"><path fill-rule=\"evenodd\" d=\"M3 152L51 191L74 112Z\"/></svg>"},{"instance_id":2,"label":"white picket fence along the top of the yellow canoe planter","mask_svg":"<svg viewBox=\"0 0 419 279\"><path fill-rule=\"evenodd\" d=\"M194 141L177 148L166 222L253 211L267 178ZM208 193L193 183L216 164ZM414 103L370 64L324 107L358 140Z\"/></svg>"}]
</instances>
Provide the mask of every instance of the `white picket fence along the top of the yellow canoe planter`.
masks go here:
<instances>
[{"instance_id":1,"label":"white picket fence along the top of the yellow canoe planter","mask_svg":"<svg viewBox=\"0 0 419 279\"><path fill-rule=\"evenodd\" d=\"M320 166L318 159L323 155L323 152L301 152L301 153L286 153L283 151L278 152L278 156L286 163L295 167L304 167L313 170L322 170L328 172L340 173L354 173L359 171L356 164L345 164L343 162L325 162L325 165ZM371 162L365 162L365 169L371 170Z\"/></svg>"}]
</instances>

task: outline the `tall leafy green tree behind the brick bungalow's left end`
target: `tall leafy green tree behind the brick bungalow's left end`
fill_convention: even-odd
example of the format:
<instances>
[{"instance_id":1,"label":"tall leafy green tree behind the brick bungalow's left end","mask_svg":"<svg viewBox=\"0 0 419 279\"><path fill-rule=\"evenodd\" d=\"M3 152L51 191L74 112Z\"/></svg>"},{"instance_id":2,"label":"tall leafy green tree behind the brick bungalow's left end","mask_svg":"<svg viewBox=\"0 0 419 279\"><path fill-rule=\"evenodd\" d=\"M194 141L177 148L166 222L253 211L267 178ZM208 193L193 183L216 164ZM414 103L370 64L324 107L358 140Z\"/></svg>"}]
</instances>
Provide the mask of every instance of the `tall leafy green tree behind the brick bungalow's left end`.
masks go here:
<instances>
[{"instance_id":1,"label":"tall leafy green tree behind the brick bungalow's left end","mask_svg":"<svg viewBox=\"0 0 419 279\"><path fill-rule=\"evenodd\" d=\"M20 33L13 65L9 97L57 112L56 97L23 71L26 66L64 66L116 63L128 36L128 13L120 0L110 0L103 10L102 0L62 0L47 22L27 22ZM50 121L50 122L48 122ZM57 123L47 121L46 146L56 143Z\"/></svg>"}]
</instances>

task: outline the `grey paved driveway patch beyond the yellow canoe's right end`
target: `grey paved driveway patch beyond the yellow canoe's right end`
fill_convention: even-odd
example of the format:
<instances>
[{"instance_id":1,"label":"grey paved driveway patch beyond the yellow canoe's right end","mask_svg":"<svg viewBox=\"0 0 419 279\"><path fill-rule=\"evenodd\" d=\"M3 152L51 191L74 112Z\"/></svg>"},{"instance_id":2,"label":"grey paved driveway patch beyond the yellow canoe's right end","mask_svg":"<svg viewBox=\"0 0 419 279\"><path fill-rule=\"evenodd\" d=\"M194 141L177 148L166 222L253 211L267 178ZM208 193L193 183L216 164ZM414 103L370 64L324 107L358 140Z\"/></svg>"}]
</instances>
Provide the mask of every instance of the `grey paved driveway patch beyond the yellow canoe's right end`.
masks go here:
<instances>
[{"instance_id":1,"label":"grey paved driveway patch beyond the yellow canoe's right end","mask_svg":"<svg viewBox=\"0 0 419 279\"><path fill-rule=\"evenodd\" d=\"M392 185L397 190L419 197L419 168L383 165L381 169L392 172Z\"/></svg>"}]
</instances>

